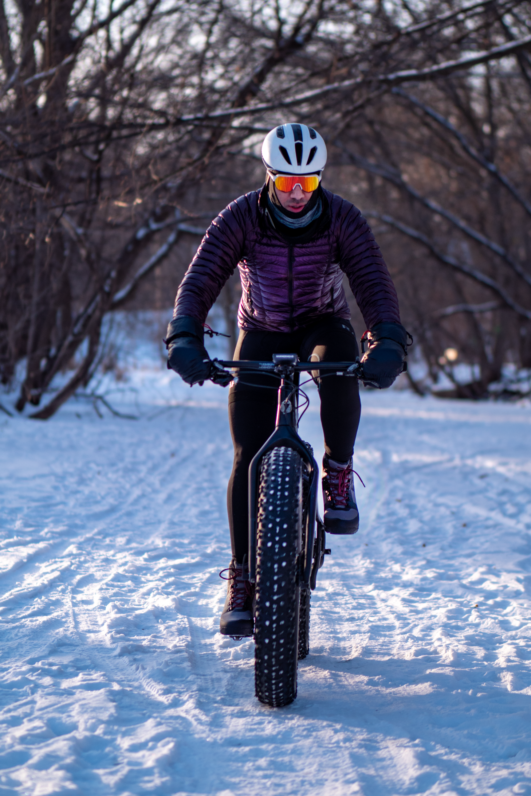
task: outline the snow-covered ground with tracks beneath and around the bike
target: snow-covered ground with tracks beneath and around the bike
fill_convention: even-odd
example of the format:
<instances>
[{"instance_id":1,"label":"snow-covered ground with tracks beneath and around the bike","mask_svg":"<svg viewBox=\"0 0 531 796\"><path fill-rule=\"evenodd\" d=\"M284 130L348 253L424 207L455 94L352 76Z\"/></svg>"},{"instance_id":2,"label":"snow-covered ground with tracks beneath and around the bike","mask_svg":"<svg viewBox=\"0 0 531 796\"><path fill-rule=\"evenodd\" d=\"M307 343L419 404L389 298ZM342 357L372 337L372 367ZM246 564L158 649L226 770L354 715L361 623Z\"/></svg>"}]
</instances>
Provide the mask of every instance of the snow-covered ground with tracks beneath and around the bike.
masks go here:
<instances>
[{"instance_id":1,"label":"snow-covered ground with tracks beneath and around the bike","mask_svg":"<svg viewBox=\"0 0 531 796\"><path fill-rule=\"evenodd\" d=\"M139 419L0 415L0 796L531 794L529 405L363 393L361 529L271 709L218 633L227 394L157 356L97 385Z\"/></svg>"}]
</instances>

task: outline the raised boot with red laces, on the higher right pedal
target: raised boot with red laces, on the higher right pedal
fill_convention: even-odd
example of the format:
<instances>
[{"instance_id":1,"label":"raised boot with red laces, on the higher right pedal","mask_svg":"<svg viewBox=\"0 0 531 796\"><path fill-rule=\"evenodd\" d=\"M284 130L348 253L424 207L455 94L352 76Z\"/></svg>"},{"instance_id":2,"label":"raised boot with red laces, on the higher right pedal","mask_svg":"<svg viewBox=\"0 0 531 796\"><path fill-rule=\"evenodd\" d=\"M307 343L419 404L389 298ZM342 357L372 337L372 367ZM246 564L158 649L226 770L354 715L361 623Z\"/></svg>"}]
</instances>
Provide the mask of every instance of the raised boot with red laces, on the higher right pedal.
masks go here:
<instances>
[{"instance_id":1,"label":"raised boot with red laces, on the higher right pedal","mask_svg":"<svg viewBox=\"0 0 531 796\"><path fill-rule=\"evenodd\" d=\"M322 459L322 499L325 504L325 530L328 533L356 533L359 527L353 472L352 459L334 462L326 454Z\"/></svg>"}]
</instances>

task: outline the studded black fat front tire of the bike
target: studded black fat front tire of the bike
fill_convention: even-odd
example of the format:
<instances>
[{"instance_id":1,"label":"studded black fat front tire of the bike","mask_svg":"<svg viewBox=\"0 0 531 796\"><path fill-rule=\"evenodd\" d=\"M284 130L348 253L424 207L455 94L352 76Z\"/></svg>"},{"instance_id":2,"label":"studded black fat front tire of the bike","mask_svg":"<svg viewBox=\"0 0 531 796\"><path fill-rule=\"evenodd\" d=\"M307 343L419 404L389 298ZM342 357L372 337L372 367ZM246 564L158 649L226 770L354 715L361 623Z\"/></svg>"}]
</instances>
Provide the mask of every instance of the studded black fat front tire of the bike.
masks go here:
<instances>
[{"instance_id":1,"label":"studded black fat front tire of the bike","mask_svg":"<svg viewBox=\"0 0 531 796\"><path fill-rule=\"evenodd\" d=\"M256 533L255 691L271 708L297 696L302 461L269 451L260 467Z\"/></svg>"}]
</instances>

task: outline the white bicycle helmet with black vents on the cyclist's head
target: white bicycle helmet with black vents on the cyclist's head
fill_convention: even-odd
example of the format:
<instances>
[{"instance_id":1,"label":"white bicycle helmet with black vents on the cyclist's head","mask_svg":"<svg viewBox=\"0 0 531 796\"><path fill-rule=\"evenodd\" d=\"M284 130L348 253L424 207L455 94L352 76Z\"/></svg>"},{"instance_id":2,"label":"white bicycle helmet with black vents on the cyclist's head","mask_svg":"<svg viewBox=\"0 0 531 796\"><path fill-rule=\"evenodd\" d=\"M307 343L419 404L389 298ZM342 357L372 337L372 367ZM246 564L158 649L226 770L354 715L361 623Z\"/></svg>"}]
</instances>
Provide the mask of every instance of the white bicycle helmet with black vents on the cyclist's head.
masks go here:
<instances>
[{"instance_id":1,"label":"white bicycle helmet with black vents on the cyclist's head","mask_svg":"<svg viewBox=\"0 0 531 796\"><path fill-rule=\"evenodd\" d=\"M326 165L326 144L313 127L281 124L267 133L262 160L267 169L283 174L314 174Z\"/></svg>"}]
</instances>

